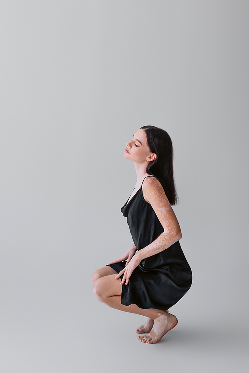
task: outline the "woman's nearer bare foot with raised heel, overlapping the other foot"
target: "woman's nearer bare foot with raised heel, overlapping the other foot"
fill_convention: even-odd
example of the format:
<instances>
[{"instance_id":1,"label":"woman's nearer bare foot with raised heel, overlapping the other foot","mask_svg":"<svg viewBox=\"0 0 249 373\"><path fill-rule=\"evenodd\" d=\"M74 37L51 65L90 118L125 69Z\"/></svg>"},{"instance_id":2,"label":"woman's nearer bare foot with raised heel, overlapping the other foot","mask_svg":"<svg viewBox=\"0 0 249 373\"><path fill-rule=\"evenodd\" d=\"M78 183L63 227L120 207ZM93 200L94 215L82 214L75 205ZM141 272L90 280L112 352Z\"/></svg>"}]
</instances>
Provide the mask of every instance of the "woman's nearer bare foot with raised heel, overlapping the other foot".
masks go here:
<instances>
[{"instance_id":1,"label":"woman's nearer bare foot with raised heel, overlapping the other foot","mask_svg":"<svg viewBox=\"0 0 249 373\"><path fill-rule=\"evenodd\" d=\"M163 314L155 319L153 328L146 336L138 336L140 342L156 343L166 334L169 330L173 329L178 323L177 318L171 313ZM146 324L145 324L146 325Z\"/></svg>"}]
</instances>

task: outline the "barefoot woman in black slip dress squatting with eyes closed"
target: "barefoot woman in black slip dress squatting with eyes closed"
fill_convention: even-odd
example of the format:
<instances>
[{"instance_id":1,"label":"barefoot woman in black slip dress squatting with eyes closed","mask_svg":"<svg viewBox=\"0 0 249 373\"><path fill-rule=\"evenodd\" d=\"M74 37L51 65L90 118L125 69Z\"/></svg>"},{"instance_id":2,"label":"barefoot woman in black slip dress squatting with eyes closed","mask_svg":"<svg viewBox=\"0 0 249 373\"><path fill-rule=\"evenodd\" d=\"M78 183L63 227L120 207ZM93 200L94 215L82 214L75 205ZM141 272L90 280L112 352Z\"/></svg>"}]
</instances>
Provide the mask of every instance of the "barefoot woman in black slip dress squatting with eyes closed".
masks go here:
<instances>
[{"instance_id":1,"label":"barefoot woman in black slip dress squatting with eyes closed","mask_svg":"<svg viewBox=\"0 0 249 373\"><path fill-rule=\"evenodd\" d=\"M134 245L94 272L93 293L110 307L146 316L136 333L148 334L138 339L156 343L176 326L177 318L168 308L192 283L171 207L177 203L172 141L163 129L144 126L127 143L124 157L135 163L137 175L135 188L121 208Z\"/></svg>"}]
</instances>

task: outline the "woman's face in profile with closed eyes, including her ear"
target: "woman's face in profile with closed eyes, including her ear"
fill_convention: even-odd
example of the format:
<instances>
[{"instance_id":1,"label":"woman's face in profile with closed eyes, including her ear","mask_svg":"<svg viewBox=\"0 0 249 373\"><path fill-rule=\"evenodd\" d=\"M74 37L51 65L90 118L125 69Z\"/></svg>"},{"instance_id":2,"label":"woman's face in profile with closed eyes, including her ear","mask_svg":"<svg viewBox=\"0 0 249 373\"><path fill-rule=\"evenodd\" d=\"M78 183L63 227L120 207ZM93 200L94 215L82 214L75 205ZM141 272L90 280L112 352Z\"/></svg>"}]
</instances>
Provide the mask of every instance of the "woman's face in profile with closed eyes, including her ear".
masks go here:
<instances>
[{"instance_id":1,"label":"woman's face in profile with closed eyes, including her ear","mask_svg":"<svg viewBox=\"0 0 249 373\"><path fill-rule=\"evenodd\" d=\"M152 154L149 150L147 136L143 129L139 129L126 145L124 158L136 163L148 163L156 158L156 154Z\"/></svg>"}]
</instances>

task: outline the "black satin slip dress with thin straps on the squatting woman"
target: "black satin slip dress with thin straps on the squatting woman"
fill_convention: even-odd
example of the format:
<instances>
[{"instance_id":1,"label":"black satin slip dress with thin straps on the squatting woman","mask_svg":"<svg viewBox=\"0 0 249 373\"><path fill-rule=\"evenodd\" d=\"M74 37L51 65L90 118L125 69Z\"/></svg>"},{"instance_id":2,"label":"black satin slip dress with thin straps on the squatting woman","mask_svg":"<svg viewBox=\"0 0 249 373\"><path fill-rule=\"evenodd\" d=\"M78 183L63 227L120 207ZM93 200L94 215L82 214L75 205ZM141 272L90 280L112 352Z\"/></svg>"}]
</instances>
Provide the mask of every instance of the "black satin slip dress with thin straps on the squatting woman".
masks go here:
<instances>
[{"instance_id":1,"label":"black satin slip dress with thin straps on the squatting woman","mask_svg":"<svg viewBox=\"0 0 249 373\"><path fill-rule=\"evenodd\" d=\"M132 239L139 251L153 242L164 229L151 205L145 201L142 185L127 202L121 208L121 212L127 217ZM119 273L125 267L125 263L109 266ZM191 268L177 241L164 251L140 262L131 274L128 284L125 285L124 282L122 285L121 304L136 304L143 309L167 310L182 298L191 283Z\"/></svg>"}]
</instances>

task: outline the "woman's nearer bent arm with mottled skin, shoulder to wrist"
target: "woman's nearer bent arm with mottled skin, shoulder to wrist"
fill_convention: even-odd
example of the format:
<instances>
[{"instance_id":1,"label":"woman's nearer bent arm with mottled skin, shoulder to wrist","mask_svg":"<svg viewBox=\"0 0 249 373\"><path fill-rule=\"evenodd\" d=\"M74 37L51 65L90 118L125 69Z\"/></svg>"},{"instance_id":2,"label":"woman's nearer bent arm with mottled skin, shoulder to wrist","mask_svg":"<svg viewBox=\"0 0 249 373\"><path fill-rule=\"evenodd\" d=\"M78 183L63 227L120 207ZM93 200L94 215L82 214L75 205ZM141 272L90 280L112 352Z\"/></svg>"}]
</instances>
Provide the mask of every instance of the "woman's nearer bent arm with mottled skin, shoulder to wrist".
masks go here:
<instances>
[{"instance_id":1,"label":"woman's nearer bent arm with mottled skin, shoulder to wrist","mask_svg":"<svg viewBox=\"0 0 249 373\"><path fill-rule=\"evenodd\" d=\"M143 182L142 188L144 199L151 204L163 226L164 232L151 244L135 254L135 257L139 260L158 254L158 252L167 249L182 237L178 220L160 182L155 177L147 177Z\"/></svg>"}]
</instances>

